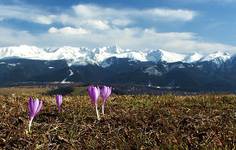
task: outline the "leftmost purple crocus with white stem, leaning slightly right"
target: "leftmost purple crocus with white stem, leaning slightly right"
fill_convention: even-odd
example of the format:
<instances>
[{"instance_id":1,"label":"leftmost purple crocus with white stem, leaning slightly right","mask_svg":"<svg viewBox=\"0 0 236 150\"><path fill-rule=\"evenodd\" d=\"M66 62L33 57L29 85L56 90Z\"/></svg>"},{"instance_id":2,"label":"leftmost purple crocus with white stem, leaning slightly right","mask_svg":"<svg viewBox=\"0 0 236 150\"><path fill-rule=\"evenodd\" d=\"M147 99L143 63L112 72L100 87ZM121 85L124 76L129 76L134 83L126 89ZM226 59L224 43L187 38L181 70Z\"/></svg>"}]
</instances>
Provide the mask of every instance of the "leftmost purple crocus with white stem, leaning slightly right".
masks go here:
<instances>
[{"instance_id":1,"label":"leftmost purple crocus with white stem, leaning slightly right","mask_svg":"<svg viewBox=\"0 0 236 150\"><path fill-rule=\"evenodd\" d=\"M32 121L34 117L39 113L40 109L43 106L43 101L38 99L33 100L32 97L29 98L28 101L28 109L29 109L29 132L32 125Z\"/></svg>"}]
</instances>

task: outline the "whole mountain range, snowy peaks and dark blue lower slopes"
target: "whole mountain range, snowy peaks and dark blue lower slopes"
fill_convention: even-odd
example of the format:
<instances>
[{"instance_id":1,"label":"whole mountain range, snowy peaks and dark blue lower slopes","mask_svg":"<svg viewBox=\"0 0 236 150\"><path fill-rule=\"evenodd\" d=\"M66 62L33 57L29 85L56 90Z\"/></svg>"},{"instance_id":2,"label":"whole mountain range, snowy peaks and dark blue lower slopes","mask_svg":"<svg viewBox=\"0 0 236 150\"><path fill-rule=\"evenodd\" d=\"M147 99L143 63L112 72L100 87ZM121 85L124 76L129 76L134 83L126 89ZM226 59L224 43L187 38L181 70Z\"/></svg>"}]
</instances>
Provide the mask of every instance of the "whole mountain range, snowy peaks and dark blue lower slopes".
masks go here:
<instances>
[{"instance_id":1,"label":"whole mountain range, snowy peaks and dark blue lower slopes","mask_svg":"<svg viewBox=\"0 0 236 150\"><path fill-rule=\"evenodd\" d=\"M0 85L94 83L182 90L234 90L236 57L224 51L180 54L102 48L0 48Z\"/></svg>"}]
</instances>

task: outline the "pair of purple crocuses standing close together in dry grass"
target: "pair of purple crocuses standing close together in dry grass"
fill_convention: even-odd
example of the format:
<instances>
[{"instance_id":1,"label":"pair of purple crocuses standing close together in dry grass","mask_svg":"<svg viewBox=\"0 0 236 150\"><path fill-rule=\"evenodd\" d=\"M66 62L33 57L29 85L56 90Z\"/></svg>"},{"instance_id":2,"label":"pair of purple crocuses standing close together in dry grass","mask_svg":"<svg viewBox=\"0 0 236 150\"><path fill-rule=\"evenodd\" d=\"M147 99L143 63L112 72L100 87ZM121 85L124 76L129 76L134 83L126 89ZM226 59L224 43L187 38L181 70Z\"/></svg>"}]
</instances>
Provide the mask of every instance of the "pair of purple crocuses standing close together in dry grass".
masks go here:
<instances>
[{"instance_id":1,"label":"pair of purple crocuses standing close together in dry grass","mask_svg":"<svg viewBox=\"0 0 236 150\"><path fill-rule=\"evenodd\" d=\"M105 104L108 99L108 97L111 95L112 88L108 86L103 86L101 89L96 86L89 86L88 87L88 95L91 98L91 102L93 105L95 105L97 119L100 120L100 115L98 111L98 98L101 95L103 103L102 103L102 114L104 115L105 111Z\"/></svg>"}]
</instances>

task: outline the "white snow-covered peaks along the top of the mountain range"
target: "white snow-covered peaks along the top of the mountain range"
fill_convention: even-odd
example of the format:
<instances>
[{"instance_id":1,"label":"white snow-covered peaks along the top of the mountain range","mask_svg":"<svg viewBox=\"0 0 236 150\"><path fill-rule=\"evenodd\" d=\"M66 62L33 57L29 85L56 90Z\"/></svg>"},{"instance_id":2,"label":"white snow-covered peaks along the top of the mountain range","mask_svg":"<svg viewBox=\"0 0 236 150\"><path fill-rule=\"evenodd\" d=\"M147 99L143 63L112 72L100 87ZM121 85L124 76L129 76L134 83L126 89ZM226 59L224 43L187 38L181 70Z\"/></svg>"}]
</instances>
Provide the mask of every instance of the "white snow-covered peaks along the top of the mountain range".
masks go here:
<instances>
[{"instance_id":1,"label":"white snow-covered peaks along the top of the mountain range","mask_svg":"<svg viewBox=\"0 0 236 150\"><path fill-rule=\"evenodd\" d=\"M68 65L87 65L87 64L106 64L104 62L108 58L128 58L141 62L204 62L212 61L214 63L222 63L230 59L231 56L227 52L218 51L208 55L199 53L179 54L165 51L162 49L135 51L130 49L122 49L118 46L109 46L101 48L84 48L84 47L60 47L60 48L38 48L35 46L21 45L18 47L2 47L0 48L0 59L2 58L24 58L36 60L66 60ZM107 65L105 65L107 66Z\"/></svg>"}]
</instances>

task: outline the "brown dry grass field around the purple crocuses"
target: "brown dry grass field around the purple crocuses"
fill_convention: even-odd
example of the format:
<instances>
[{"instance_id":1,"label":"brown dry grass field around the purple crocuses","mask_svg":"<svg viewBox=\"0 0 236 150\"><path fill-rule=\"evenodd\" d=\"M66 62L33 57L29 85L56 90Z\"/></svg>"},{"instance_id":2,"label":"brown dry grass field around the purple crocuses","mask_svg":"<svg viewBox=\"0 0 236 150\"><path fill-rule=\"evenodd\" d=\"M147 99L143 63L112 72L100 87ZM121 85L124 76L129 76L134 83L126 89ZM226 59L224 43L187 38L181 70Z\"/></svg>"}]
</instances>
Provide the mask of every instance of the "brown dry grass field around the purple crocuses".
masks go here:
<instances>
[{"instance_id":1,"label":"brown dry grass field around the purple crocuses","mask_svg":"<svg viewBox=\"0 0 236 150\"><path fill-rule=\"evenodd\" d=\"M44 101L27 134L28 96L0 96L2 149L235 149L236 96L112 96L101 121L87 96Z\"/></svg>"}]
</instances>

